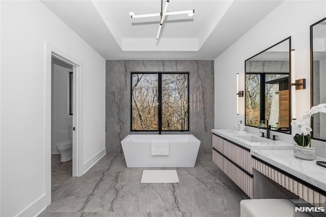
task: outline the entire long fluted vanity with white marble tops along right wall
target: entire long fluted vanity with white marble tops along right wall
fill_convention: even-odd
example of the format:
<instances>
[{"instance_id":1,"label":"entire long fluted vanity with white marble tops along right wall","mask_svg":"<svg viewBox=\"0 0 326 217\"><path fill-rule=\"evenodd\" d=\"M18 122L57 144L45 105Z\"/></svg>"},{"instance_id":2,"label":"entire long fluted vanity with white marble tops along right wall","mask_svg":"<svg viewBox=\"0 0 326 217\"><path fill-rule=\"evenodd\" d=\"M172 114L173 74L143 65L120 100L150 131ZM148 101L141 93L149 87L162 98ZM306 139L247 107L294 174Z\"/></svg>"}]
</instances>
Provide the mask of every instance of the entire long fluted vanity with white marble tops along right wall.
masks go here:
<instances>
[{"instance_id":1,"label":"entire long fluted vanity with white marble tops along right wall","mask_svg":"<svg viewBox=\"0 0 326 217\"><path fill-rule=\"evenodd\" d=\"M251 199L284 198L300 207L326 207L325 168L316 165L326 158L303 162L286 142L244 142L255 135L243 137L229 129L211 132L212 161Z\"/></svg>"}]
</instances>

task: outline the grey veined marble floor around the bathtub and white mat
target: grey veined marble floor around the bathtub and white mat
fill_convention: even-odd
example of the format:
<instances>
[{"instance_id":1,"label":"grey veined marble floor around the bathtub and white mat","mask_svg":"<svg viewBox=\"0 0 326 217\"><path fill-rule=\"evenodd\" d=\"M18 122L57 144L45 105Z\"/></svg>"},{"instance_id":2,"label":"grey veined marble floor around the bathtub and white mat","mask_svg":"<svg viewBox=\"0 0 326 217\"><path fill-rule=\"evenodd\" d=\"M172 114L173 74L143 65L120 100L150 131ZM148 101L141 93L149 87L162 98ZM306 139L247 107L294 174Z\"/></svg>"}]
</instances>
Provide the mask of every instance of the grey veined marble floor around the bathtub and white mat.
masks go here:
<instances>
[{"instance_id":1,"label":"grey veined marble floor around the bathtub and white mat","mask_svg":"<svg viewBox=\"0 0 326 217\"><path fill-rule=\"evenodd\" d=\"M119 154L105 155L82 177L59 172L52 178L52 203L39 216L233 217L248 199L211 154L199 154L194 168L158 168L176 169L180 183L140 183L144 169L157 168L127 168Z\"/></svg>"}]
</instances>

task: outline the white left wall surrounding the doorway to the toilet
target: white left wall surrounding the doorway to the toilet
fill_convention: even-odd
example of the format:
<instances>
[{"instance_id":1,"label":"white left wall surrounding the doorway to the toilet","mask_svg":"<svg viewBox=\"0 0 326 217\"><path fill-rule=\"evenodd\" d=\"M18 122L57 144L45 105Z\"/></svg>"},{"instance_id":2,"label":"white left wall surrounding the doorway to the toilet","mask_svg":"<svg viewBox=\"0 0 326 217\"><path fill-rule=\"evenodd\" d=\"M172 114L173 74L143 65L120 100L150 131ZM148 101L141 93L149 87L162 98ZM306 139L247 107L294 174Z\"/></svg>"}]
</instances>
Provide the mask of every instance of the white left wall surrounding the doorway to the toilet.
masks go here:
<instances>
[{"instance_id":1,"label":"white left wall surrounding the doorway to the toilet","mask_svg":"<svg viewBox=\"0 0 326 217\"><path fill-rule=\"evenodd\" d=\"M33 216L50 203L45 46L82 63L82 172L105 153L105 60L38 1L1 1L0 14L0 215Z\"/></svg>"}]
</instances>

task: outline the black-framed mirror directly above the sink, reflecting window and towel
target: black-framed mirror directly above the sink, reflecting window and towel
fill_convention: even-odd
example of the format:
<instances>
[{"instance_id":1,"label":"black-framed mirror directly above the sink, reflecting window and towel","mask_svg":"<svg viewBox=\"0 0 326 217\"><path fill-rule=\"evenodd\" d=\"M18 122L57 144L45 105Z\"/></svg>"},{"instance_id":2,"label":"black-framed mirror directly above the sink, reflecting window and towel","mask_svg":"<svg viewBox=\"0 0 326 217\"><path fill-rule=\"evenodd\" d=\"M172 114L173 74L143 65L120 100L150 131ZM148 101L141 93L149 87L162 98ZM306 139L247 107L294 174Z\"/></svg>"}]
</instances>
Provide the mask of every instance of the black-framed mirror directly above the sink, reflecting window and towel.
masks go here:
<instances>
[{"instance_id":1,"label":"black-framed mirror directly above the sink, reflecting window and towel","mask_svg":"<svg viewBox=\"0 0 326 217\"><path fill-rule=\"evenodd\" d=\"M244 61L245 124L291 133L291 37Z\"/></svg>"}]
</instances>

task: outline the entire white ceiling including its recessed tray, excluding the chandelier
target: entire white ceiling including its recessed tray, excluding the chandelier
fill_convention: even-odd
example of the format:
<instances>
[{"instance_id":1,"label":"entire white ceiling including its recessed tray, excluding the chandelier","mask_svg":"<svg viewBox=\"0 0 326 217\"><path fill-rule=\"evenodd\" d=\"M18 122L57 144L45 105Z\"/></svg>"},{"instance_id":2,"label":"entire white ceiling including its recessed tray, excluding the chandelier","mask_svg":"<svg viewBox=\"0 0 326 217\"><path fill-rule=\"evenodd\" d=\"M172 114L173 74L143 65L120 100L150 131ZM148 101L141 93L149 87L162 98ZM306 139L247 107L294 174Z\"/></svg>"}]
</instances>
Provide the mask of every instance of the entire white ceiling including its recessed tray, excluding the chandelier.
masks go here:
<instances>
[{"instance_id":1,"label":"entire white ceiling including its recessed tray, excluding the chandelier","mask_svg":"<svg viewBox=\"0 0 326 217\"><path fill-rule=\"evenodd\" d=\"M41 1L106 60L214 60L283 0L170 0L159 40L160 0ZM163 5L166 0L163 1Z\"/></svg>"}]
</instances>

